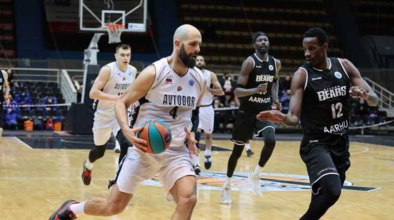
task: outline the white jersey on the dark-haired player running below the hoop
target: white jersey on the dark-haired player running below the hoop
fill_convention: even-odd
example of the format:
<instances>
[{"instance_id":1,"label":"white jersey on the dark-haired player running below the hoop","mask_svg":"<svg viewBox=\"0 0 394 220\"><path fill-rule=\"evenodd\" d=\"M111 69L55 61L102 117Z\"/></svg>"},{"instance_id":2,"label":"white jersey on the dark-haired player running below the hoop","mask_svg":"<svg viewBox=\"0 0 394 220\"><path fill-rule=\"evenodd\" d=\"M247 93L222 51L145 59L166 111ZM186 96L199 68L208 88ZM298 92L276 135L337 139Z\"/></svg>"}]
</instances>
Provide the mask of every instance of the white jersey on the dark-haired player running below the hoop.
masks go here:
<instances>
[{"instance_id":1,"label":"white jersey on the dark-haired player running below the hoop","mask_svg":"<svg viewBox=\"0 0 394 220\"><path fill-rule=\"evenodd\" d=\"M106 66L111 69L111 73L108 81L101 90L107 94L121 95L135 80L137 69L128 65L126 71L123 72L116 66L115 62L108 63ZM96 113L112 117L115 117L114 106L115 101L112 100L95 100L93 103L93 108L96 110Z\"/></svg>"}]
</instances>

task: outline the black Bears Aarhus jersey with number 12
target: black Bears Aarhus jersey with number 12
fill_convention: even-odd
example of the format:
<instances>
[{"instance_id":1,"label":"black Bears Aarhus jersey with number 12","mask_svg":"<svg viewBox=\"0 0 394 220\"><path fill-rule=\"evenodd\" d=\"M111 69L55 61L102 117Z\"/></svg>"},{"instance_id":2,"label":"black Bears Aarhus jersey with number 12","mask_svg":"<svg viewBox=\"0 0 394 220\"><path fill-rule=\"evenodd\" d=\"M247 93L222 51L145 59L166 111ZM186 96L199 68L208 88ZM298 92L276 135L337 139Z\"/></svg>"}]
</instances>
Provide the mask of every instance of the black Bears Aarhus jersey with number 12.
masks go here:
<instances>
[{"instance_id":1,"label":"black Bears Aarhus jersey with number 12","mask_svg":"<svg viewBox=\"0 0 394 220\"><path fill-rule=\"evenodd\" d=\"M346 133L349 130L348 98L350 79L338 58L328 58L328 70L309 64L302 99L301 129L304 134Z\"/></svg>"}]
</instances>

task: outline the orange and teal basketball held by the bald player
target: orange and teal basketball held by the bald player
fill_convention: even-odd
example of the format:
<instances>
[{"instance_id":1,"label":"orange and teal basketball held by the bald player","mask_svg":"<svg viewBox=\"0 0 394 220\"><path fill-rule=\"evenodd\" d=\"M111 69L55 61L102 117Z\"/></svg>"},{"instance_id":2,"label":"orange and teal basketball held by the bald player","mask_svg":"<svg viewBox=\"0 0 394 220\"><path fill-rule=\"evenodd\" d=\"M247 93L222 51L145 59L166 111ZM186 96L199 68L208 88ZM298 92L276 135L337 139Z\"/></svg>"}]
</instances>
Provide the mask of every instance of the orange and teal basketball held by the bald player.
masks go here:
<instances>
[{"instance_id":1,"label":"orange and teal basketball held by the bald player","mask_svg":"<svg viewBox=\"0 0 394 220\"><path fill-rule=\"evenodd\" d=\"M137 138L147 141L146 153L160 154L165 151L171 143L171 130L161 120L148 120L141 127L143 129L137 132Z\"/></svg>"}]
</instances>

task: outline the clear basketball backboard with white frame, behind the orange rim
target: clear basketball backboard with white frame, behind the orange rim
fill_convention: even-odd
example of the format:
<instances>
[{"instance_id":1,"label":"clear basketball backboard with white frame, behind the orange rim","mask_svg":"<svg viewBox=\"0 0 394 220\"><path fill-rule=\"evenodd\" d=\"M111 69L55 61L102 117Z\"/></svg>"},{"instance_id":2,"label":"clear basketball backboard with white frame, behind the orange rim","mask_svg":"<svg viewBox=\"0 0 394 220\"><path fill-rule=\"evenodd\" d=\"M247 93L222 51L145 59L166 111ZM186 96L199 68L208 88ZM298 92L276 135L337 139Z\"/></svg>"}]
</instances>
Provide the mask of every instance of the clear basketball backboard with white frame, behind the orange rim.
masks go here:
<instances>
[{"instance_id":1,"label":"clear basketball backboard with white frame, behind the orange rim","mask_svg":"<svg viewBox=\"0 0 394 220\"><path fill-rule=\"evenodd\" d=\"M147 0L79 0L79 30L106 32L107 24L123 32L146 32Z\"/></svg>"}]
</instances>

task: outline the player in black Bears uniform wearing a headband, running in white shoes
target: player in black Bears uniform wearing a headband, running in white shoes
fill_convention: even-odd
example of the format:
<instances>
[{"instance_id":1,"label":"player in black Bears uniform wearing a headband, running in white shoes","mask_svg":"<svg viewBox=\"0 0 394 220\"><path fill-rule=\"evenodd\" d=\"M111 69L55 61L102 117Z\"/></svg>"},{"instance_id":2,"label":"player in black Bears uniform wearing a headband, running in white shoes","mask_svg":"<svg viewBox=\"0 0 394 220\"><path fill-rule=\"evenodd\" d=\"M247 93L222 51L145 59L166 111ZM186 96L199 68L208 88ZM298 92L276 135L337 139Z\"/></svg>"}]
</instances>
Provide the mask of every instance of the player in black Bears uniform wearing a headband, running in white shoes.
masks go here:
<instances>
[{"instance_id":1,"label":"player in black Bears uniform wearing a headband, running in white shoes","mask_svg":"<svg viewBox=\"0 0 394 220\"><path fill-rule=\"evenodd\" d=\"M243 61L234 91L235 96L240 98L240 105L230 139L234 143L234 147L227 165L227 180L223 186L221 197L223 204L231 204L231 177L245 143L252 139L255 129L257 133L255 137L264 139L259 163L254 171L249 173L252 192L257 195L262 194L260 173L275 147L274 123L258 121L256 114L263 110L271 110L273 103L277 109L280 109L280 103L277 100L278 72L281 63L278 59L268 55L269 41L264 32L257 32L252 37L251 44L255 53Z\"/></svg>"}]
</instances>

